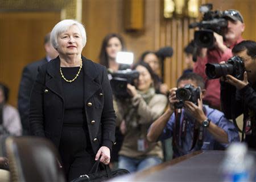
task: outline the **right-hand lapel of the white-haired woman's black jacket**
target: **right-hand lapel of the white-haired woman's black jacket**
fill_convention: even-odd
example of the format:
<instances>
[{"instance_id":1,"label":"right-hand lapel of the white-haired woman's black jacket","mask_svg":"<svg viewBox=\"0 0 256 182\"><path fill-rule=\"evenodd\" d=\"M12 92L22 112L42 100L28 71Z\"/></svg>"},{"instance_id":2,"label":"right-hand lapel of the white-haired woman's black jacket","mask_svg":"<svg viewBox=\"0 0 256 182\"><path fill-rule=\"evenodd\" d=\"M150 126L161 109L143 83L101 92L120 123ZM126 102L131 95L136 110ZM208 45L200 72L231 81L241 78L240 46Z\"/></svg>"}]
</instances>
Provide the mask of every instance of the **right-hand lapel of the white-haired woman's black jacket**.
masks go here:
<instances>
[{"instance_id":1,"label":"right-hand lapel of the white-haired woman's black jacket","mask_svg":"<svg viewBox=\"0 0 256 182\"><path fill-rule=\"evenodd\" d=\"M82 69L84 71L84 101L87 100L101 88L100 84L94 81L98 76L98 69L94 62L82 56Z\"/></svg>"}]
</instances>

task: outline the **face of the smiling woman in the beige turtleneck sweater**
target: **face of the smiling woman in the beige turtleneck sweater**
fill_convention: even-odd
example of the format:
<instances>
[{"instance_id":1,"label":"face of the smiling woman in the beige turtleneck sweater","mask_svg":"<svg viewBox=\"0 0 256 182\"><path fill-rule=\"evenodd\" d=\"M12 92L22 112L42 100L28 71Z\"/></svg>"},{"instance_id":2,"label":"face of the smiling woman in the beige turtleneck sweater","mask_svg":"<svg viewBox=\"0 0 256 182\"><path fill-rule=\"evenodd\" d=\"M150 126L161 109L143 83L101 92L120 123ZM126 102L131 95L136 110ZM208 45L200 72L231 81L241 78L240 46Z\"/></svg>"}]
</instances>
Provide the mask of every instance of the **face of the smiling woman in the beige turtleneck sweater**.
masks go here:
<instances>
[{"instance_id":1,"label":"face of the smiling woman in the beige turtleneck sweater","mask_svg":"<svg viewBox=\"0 0 256 182\"><path fill-rule=\"evenodd\" d=\"M151 75L144 66L139 65L136 67L136 70L139 72L139 78L135 84L137 85L138 90L146 92L153 82Z\"/></svg>"}]
</instances>

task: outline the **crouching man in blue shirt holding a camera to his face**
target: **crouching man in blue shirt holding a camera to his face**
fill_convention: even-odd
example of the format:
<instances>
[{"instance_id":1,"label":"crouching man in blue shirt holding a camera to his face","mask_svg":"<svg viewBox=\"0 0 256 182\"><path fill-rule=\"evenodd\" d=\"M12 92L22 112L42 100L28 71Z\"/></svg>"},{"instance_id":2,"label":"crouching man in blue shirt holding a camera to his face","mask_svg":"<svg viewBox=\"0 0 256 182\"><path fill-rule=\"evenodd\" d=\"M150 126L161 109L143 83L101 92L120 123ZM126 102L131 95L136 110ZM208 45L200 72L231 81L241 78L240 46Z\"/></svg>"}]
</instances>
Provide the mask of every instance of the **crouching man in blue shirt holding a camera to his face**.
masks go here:
<instances>
[{"instance_id":1,"label":"crouching man in blue shirt holding a camera to his face","mask_svg":"<svg viewBox=\"0 0 256 182\"><path fill-rule=\"evenodd\" d=\"M172 88L169 96L170 107L151 125L147 134L148 141L155 142L173 137L174 158L196 150L221 150L230 142L239 141L233 123L226 119L222 112L203 105L203 78L196 73L186 73L177 80L178 88L184 88L188 84L196 90L200 87L198 104L185 100L184 107L177 109L177 88Z\"/></svg>"}]
</instances>

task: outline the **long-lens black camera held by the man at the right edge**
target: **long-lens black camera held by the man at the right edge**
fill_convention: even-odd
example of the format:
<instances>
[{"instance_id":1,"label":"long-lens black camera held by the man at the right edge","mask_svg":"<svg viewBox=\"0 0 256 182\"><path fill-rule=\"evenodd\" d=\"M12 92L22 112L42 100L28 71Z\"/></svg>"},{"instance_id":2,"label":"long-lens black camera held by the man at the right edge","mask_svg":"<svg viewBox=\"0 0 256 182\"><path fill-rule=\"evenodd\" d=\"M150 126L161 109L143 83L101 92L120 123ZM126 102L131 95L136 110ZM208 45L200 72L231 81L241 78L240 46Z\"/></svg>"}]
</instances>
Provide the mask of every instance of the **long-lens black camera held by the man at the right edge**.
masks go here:
<instances>
[{"instance_id":1,"label":"long-lens black camera held by the man at the right edge","mask_svg":"<svg viewBox=\"0 0 256 182\"><path fill-rule=\"evenodd\" d=\"M239 56L233 56L226 64L206 64L205 74L209 79L216 79L227 74L243 80L243 72L245 72L245 64Z\"/></svg>"}]
</instances>

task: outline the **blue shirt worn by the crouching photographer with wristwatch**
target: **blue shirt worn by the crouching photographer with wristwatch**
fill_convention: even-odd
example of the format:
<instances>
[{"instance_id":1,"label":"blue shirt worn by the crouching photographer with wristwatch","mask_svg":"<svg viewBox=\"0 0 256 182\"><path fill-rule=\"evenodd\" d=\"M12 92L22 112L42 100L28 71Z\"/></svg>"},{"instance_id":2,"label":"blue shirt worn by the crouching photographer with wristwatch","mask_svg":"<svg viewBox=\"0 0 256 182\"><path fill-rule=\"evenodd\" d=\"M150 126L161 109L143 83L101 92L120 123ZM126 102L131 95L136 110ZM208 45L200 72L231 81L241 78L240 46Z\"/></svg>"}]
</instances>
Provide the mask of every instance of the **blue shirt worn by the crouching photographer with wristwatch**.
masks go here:
<instances>
[{"instance_id":1,"label":"blue shirt worn by the crouching photographer with wristwatch","mask_svg":"<svg viewBox=\"0 0 256 182\"><path fill-rule=\"evenodd\" d=\"M209 108L208 105L204 105L204 109L206 111L206 116L210 119L210 122L213 122L228 134L229 143L240 141L238 130L234 126L233 122L229 121L227 118L224 117L224 113L218 111L217 109ZM174 151L174 157L185 155L196 150L196 147L195 147L193 150L189 151L191 149L192 142L193 142L193 131L194 131L194 125L196 122L195 118L192 118L192 116L187 115L184 109L182 109L181 118L180 118L180 128L181 128L181 122L183 121L184 116L186 116L187 118L187 130L186 130L187 133L183 141L183 146L182 146L183 151ZM159 137L159 140L164 140L172 137L174 125L175 125L175 114L173 113L172 116L170 117L170 120L167 122L166 128L164 128L162 135ZM180 138L179 138L179 141L181 141ZM216 141L216 139L214 139L214 137L208 132L208 130L205 129L203 146L201 147L201 150L223 150L229 146L229 143L225 144L225 143L220 143Z\"/></svg>"}]
</instances>

